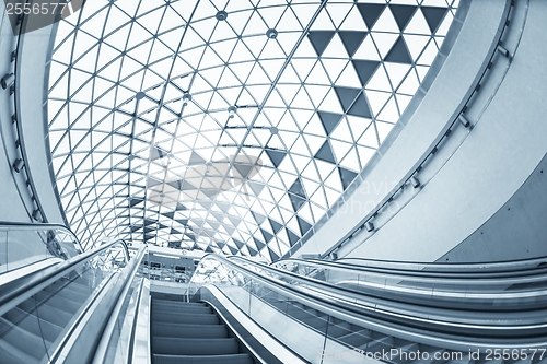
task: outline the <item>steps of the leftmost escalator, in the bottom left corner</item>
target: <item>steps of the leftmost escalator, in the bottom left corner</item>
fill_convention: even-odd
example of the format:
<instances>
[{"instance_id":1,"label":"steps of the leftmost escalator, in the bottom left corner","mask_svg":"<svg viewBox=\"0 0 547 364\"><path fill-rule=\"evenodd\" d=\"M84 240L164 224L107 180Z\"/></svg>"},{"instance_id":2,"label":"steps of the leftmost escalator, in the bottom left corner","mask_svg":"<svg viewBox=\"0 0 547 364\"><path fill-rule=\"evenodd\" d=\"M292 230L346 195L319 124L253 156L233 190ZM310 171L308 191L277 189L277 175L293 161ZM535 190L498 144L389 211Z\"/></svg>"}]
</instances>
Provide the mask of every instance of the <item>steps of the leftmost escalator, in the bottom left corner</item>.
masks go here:
<instances>
[{"instance_id":1,"label":"steps of the leftmost escalator, in the bottom left corner","mask_svg":"<svg viewBox=\"0 0 547 364\"><path fill-rule=\"evenodd\" d=\"M0 363L40 363L51 354L54 342L60 339L91 291L82 278L60 279L3 314Z\"/></svg>"}]
</instances>

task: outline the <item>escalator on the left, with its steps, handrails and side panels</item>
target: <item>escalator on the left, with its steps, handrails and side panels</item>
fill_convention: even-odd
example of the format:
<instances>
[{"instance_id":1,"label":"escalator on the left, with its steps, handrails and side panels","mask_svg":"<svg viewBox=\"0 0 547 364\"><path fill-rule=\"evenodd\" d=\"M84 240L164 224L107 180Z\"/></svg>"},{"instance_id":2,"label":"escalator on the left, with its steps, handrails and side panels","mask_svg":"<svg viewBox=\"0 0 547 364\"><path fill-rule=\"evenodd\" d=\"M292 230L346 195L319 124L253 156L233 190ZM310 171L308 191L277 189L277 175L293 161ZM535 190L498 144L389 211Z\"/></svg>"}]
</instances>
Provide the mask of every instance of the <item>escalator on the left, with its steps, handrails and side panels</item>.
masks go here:
<instances>
[{"instance_id":1,"label":"escalator on the left, with its steps, handrails and side panels","mask_svg":"<svg viewBox=\"0 0 547 364\"><path fill-rule=\"evenodd\" d=\"M143 250L129 263L123 240L83 251L60 225L0 230L0 363L89 362Z\"/></svg>"}]
</instances>

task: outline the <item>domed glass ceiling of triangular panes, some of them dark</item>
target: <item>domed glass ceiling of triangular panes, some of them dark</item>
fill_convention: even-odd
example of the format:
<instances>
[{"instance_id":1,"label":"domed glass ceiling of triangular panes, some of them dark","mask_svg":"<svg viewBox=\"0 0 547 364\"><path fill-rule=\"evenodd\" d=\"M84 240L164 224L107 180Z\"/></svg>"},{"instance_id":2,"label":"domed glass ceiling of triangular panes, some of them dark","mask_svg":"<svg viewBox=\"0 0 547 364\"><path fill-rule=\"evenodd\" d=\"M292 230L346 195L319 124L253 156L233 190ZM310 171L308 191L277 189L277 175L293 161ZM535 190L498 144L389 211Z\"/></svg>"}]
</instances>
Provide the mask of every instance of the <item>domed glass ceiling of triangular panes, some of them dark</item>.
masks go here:
<instances>
[{"instance_id":1,"label":"domed glass ceiling of triangular panes, some of them dark","mask_svg":"<svg viewBox=\"0 0 547 364\"><path fill-rule=\"evenodd\" d=\"M72 230L278 259L389 133L456 5L88 1L47 102Z\"/></svg>"}]
</instances>

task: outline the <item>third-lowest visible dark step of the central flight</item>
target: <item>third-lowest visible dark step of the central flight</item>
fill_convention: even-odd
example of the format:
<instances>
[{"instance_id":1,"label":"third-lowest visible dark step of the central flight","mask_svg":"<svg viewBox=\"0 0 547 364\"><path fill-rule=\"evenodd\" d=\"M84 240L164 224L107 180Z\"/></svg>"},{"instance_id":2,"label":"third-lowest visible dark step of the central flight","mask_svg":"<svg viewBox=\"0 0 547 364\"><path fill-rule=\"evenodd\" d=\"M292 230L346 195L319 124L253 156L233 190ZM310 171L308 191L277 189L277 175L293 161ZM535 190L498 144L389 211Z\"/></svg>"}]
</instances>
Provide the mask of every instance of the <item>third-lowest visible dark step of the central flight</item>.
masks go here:
<instances>
[{"instance_id":1,"label":"third-lowest visible dark step of the central flight","mask_svg":"<svg viewBox=\"0 0 547 364\"><path fill-rule=\"evenodd\" d=\"M172 338L226 338L228 329L224 325L152 322L152 336Z\"/></svg>"}]
</instances>

